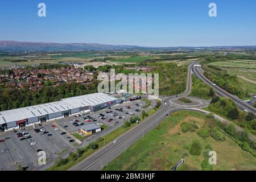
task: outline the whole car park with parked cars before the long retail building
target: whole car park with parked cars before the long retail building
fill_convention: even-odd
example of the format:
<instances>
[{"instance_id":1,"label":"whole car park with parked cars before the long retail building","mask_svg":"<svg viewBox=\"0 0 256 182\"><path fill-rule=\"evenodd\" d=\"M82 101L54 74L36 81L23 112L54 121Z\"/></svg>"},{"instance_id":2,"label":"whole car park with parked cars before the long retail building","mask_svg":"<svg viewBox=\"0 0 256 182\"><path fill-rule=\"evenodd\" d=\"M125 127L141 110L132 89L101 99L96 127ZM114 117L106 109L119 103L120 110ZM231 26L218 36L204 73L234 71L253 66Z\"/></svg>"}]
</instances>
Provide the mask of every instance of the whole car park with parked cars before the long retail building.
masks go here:
<instances>
[{"instance_id":1,"label":"whole car park with parked cars before the long retail building","mask_svg":"<svg viewBox=\"0 0 256 182\"><path fill-rule=\"evenodd\" d=\"M97 125L104 124L109 128L118 127L121 123L129 121L130 117L141 114L144 105L146 103L141 100L125 102L96 113L44 122L36 127L26 127L25 130L18 130L15 133L14 131L1 133L0 170L16 170L19 164L22 167L28 167L28 170L39 168L38 152L45 151L47 161L55 160L79 144L80 141L71 134L80 130L82 125L96 123Z\"/></svg>"}]
</instances>

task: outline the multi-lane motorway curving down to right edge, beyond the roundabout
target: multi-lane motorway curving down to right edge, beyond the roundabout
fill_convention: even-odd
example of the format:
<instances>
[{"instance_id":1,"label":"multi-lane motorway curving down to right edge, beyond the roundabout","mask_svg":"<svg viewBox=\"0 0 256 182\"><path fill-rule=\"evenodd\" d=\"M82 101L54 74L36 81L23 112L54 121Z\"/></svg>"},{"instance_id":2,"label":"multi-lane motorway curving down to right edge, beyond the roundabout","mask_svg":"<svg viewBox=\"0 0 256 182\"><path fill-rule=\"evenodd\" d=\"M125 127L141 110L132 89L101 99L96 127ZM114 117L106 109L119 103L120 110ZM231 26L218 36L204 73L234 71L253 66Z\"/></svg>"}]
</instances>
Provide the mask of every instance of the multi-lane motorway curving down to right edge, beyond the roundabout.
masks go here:
<instances>
[{"instance_id":1,"label":"multi-lane motorway curving down to right edge, beyond the roundabout","mask_svg":"<svg viewBox=\"0 0 256 182\"><path fill-rule=\"evenodd\" d=\"M192 66L192 72L194 73L194 75L196 77L200 78L200 80L204 81L206 84L212 86L212 88L216 91L216 93L219 96L228 97L231 100L233 100L235 102L235 104L238 107L240 107L240 109L242 109L242 110L249 110L252 113L256 114L256 109L253 106L247 104L246 102L243 102L240 98L238 98L237 96L234 96L233 94L230 94L230 93L226 92L226 90L220 88L219 86L214 85L212 81L210 81L207 77L205 77L203 74L200 73L200 71L199 71L199 69L197 67L193 66L195 64L199 64L199 63L195 62L195 63L193 63L191 65Z\"/></svg>"}]
</instances>

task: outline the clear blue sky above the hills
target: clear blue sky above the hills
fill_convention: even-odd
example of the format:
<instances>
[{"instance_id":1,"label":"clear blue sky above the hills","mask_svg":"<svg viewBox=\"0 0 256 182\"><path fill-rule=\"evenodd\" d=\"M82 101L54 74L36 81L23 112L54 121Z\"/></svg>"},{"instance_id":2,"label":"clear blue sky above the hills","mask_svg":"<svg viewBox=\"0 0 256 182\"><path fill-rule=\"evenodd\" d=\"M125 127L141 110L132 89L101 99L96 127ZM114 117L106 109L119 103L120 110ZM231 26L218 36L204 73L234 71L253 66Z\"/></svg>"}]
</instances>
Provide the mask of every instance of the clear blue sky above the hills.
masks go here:
<instances>
[{"instance_id":1,"label":"clear blue sky above the hills","mask_svg":"<svg viewBox=\"0 0 256 182\"><path fill-rule=\"evenodd\" d=\"M47 16L38 16L46 3ZM208 5L217 4L217 17ZM255 0L1 0L0 40L137 46L256 45Z\"/></svg>"}]
</instances>

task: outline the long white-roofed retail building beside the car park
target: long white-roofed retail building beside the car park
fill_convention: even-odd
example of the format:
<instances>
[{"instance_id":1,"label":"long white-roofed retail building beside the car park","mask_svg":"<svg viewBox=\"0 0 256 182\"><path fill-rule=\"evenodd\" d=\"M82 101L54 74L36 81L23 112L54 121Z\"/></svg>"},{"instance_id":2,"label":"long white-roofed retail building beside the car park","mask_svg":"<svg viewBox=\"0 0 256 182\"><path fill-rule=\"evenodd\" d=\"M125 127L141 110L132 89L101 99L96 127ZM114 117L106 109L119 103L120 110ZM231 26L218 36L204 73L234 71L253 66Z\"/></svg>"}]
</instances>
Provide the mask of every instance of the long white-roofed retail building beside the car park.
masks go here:
<instances>
[{"instance_id":1,"label":"long white-roofed retail building beside the car park","mask_svg":"<svg viewBox=\"0 0 256 182\"><path fill-rule=\"evenodd\" d=\"M0 131L51 121L61 117L98 111L119 104L121 100L104 93L93 93L84 96L64 98L57 102L28 106L0 112Z\"/></svg>"}]
</instances>

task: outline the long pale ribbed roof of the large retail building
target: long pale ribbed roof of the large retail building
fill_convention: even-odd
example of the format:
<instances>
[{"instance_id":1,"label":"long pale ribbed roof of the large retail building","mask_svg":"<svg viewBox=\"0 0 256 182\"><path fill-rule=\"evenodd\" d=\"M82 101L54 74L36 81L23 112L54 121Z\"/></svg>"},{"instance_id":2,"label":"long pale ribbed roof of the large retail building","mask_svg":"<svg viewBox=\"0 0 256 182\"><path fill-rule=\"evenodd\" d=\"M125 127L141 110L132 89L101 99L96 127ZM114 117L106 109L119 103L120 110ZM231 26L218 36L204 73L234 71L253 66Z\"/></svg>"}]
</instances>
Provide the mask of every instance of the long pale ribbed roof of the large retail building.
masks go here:
<instances>
[{"instance_id":1,"label":"long pale ribbed roof of the large retail building","mask_svg":"<svg viewBox=\"0 0 256 182\"><path fill-rule=\"evenodd\" d=\"M20 121L22 119L40 117L60 111L67 111L69 109L95 106L115 100L117 100L117 98L111 97L104 93L93 93L84 96L64 98L61 101L50 102L47 104L0 111L0 125L7 122Z\"/></svg>"}]
</instances>

